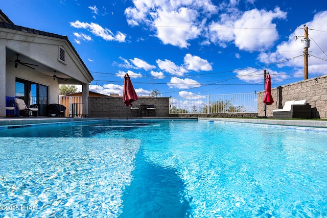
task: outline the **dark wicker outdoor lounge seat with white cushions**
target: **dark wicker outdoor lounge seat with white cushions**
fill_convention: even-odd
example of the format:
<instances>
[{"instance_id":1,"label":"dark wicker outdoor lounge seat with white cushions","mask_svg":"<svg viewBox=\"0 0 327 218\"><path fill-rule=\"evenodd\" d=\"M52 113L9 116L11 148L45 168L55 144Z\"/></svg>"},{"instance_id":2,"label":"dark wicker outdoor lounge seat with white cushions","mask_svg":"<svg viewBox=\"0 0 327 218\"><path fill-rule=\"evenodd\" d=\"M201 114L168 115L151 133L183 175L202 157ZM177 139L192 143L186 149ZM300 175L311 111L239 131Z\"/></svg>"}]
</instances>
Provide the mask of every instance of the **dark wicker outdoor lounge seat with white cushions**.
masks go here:
<instances>
[{"instance_id":1,"label":"dark wicker outdoor lounge seat with white cushions","mask_svg":"<svg viewBox=\"0 0 327 218\"><path fill-rule=\"evenodd\" d=\"M311 118L311 105L307 100L287 101L283 109L272 110L272 118Z\"/></svg>"}]
</instances>

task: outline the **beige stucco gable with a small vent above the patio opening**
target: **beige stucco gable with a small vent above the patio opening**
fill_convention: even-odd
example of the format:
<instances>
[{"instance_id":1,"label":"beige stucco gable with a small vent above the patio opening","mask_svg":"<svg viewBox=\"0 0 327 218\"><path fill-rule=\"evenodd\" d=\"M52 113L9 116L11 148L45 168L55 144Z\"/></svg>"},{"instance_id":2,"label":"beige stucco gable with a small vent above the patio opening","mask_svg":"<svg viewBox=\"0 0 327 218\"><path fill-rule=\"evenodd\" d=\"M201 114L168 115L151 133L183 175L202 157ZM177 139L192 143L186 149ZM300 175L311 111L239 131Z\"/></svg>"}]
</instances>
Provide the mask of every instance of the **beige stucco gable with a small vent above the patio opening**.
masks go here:
<instances>
[{"instance_id":1,"label":"beige stucco gable with a small vent above the patio opening","mask_svg":"<svg viewBox=\"0 0 327 218\"><path fill-rule=\"evenodd\" d=\"M11 29L0 30L1 43L7 49L63 72L79 81L78 84L88 84L92 80L67 40ZM65 50L65 63L58 61L60 46Z\"/></svg>"}]
</instances>

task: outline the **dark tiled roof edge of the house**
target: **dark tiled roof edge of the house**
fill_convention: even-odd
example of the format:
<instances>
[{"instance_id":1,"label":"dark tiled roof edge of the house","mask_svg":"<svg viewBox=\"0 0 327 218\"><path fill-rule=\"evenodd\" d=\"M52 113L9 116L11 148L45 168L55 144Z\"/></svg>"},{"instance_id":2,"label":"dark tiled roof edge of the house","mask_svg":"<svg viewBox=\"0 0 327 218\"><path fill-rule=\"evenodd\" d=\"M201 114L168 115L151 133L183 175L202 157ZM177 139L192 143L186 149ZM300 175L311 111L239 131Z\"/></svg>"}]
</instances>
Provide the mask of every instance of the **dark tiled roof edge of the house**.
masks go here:
<instances>
[{"instance_id":1,"label":"dark tiled roof edge of the house","mask_svg":"<svg viewBox=\"0 0 327 218\"><path fill-rule=\"evenodd\" d=\"M49 33L49 32L44 32L44 31L40 31L40 30L35 30L35 29L27 28L27 27L22 27L22 26L14 25L14 23L7 17L7 15L5 13L2 12L2 10L0 10L0 20L6 20L6 21L0 22L0 28L8 28L8 29L12 29L12 30L26 32L26 33L32 33L32 34L37 34L37 35L42 35L42 36L48 36L48 37L55 37L55 38L65 39L68 42L68 44L72 47L72 49L75 52L75 54L77 55L77 57L80 59L81 63L83 64L83 66L87 70L87 72L90 75L90 77L92 78L92 80L94 80L94 78L92 77L90 71L86 67L84 61L79 56L79 54L75 50L75 47L73 46L73 44L71 43L71 41L69 41L69 39L68 39L67 36L62 36L62 35L58 35L58 34L54 34L54 33Z\"/></svg>"}]
</instances>

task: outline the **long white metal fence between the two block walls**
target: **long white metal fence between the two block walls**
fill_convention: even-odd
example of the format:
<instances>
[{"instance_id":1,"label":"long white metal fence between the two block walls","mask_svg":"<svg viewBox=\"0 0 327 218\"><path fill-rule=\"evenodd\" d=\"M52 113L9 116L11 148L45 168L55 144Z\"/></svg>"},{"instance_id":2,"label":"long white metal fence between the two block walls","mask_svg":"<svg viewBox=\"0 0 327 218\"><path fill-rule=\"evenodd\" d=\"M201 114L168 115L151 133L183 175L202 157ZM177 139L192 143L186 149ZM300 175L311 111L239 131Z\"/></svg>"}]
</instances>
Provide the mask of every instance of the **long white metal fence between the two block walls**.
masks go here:
<instances>
[{"instance_id":1,"label":"long white metal fence between the two block walls","mask_svg":"<svg viewBox=\"0 0 327 218\"><path fill-rule=\"evenodd\" d=\"M257 113L256 93L192 95L170 98L169 113Z\"/></svg>"}]
</instances>

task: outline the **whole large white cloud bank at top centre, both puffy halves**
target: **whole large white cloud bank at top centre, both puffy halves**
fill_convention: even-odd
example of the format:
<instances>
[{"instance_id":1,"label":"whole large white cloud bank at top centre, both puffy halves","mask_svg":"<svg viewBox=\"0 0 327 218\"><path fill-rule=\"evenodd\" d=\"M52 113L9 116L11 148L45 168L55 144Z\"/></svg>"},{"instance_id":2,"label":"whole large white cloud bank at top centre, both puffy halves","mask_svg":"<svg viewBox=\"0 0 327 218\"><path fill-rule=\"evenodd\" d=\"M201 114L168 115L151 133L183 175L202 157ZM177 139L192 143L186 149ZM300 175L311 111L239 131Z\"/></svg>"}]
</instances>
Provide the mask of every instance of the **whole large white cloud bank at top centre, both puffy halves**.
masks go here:
<instances>
[{"instance_id":1,"label":"whole large white cloud bank at top centre, both puffy halves","mask_svg":"<svg viewBox=\"0 0 327 218\"><path fill-rule=\"evenodd\" d=\"M278 39L276 19L286 19L287 13L276 7L273 11L238 9L240 0L221 2L210 0L132 0L125 10L130 26L145 25L164 44L189 47L193 39L204 37L209 42L226 47L235 44L240 50L254 52L270 49ZM253 4L254 0L245 1ZM219 20L207 23L215 14ZM209 26L208 28L205 28Z\"/></svg>"}]
</instances>

